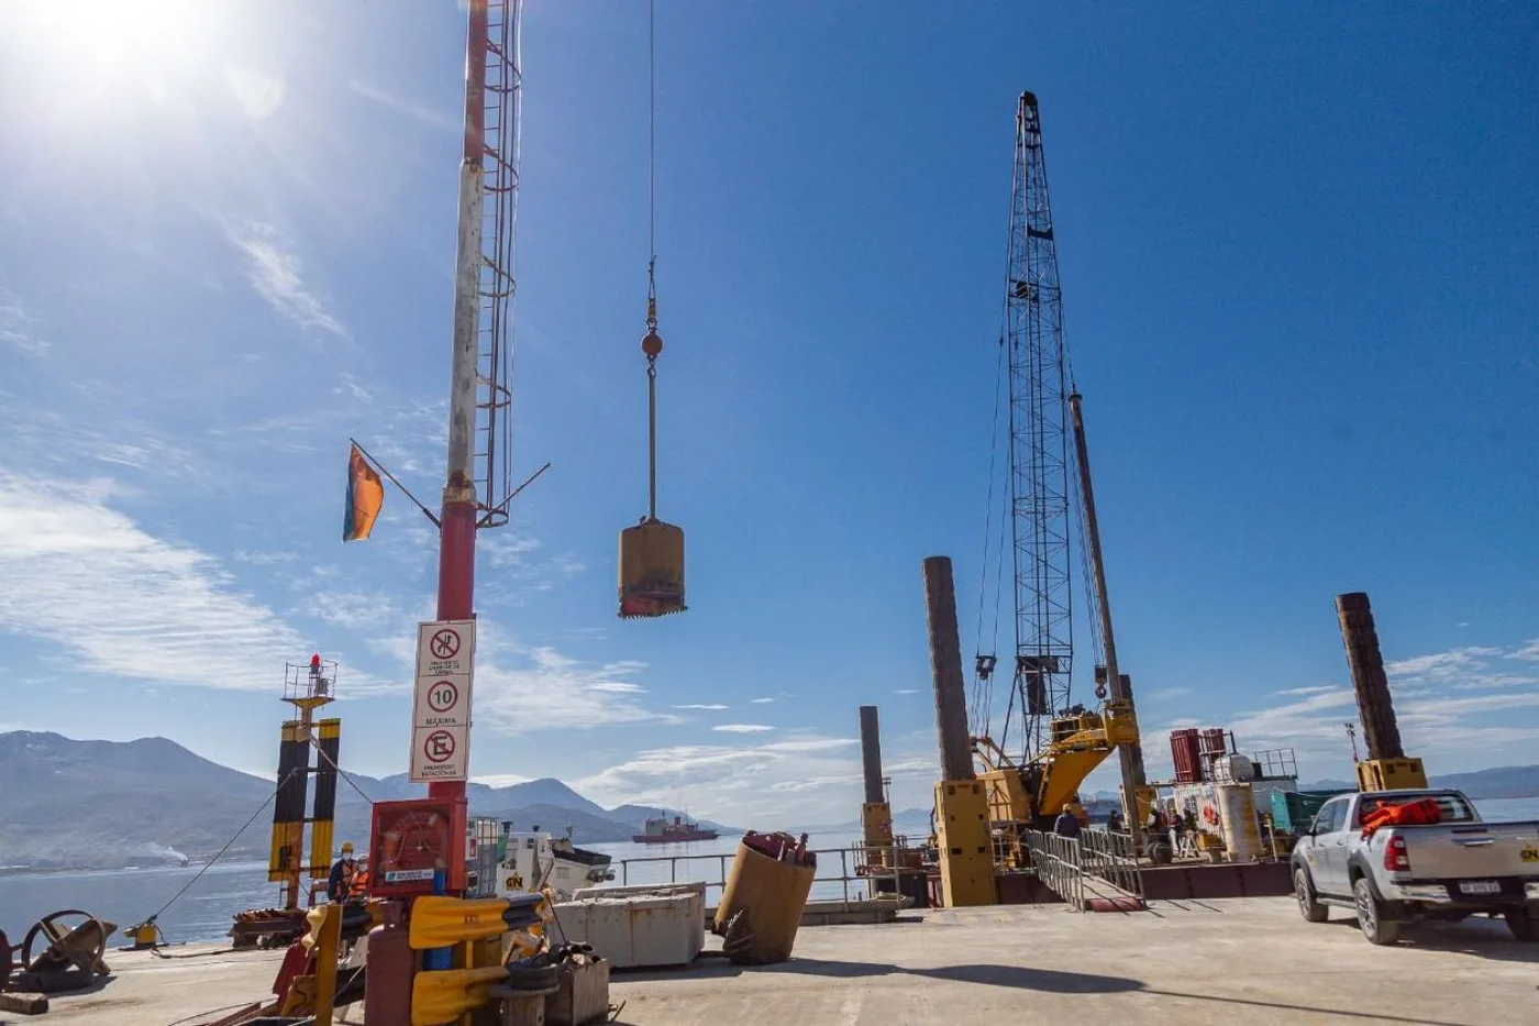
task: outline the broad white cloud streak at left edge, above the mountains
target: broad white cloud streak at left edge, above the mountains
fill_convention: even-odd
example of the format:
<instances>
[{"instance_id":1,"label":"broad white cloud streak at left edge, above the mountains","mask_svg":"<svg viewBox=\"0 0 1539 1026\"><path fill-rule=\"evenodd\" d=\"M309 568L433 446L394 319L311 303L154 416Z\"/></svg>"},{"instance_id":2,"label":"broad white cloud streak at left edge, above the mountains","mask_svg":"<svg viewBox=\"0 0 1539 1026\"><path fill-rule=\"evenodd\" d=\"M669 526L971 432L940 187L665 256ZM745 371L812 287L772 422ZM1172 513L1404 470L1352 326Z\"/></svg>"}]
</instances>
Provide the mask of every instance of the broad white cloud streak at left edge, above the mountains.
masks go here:
<instances>
[{"instance_id":1,"label":"broad white cloud streak at left edge, above the mountains","mask_svg":"<svg viewBox=\"0 0 1539 1026\"><path fill-rule=\"evenodd\" d=\"M0 474L0 627L97 673L271 692L305 638L215 559L114 510L111 495L108 482Z\"/></svg>"}]
</instances>

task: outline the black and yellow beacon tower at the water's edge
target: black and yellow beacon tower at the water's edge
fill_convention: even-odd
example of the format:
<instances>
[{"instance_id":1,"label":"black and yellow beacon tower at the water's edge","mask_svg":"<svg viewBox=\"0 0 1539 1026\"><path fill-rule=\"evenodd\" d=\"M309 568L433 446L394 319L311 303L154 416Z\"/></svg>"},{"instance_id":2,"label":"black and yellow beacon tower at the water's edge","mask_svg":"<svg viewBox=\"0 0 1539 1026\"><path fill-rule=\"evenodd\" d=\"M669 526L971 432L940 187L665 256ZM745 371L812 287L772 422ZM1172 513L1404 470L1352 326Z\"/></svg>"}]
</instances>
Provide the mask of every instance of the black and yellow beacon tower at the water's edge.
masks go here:
<instances>
[{"instance_id":1,"label":"black and yellow beacon tower at the water's edge","mask_svg":"<svg viewBox=\"0 0 1539 1026\"><path fill-rule=\"evenodd\" d=\"M331 875L331 835L337 818L337 752L342 746L340 719L315 719L315 710L331 704L337 684L337 664L319 655L309 664L283 667L283 701L299 710L297 719L283 724L279 744L279 792L272 806L272 853L268 880L283 884L283 907L299 907L299 881ZM311 747L319 752L311 766ZM309 778L315 776L315 804L305 815ZM303 861L305 826L309 826L309 861Z\"/></svg>"}]
</instances>

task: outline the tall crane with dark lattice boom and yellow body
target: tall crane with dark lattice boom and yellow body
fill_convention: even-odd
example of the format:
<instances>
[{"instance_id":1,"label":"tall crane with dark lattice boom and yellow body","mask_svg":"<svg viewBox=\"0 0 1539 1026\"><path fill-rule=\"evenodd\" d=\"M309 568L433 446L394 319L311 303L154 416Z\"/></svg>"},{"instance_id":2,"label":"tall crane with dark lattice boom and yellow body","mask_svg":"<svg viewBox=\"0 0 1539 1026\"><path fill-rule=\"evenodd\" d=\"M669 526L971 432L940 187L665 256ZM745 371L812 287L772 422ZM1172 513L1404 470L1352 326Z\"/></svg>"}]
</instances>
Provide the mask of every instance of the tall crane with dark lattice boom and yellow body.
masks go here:
<instances>
[{"instance_id":1,"label":"tall crane with dark lattice boom and yellow body","mask_svg":"<svg viewBox=\"0 0 1539 1026\"><path fill-rule=\"evenodd\" d=\"M1131 684L1117 670L1090 451L1080 396L1063 347L1062 313L1042 122L1036 96L1023 92L1016 114L1005 330L1000 337L1000 370L1008 374L1010 468L1008 516L1002 518L999 531L1003 535L1008 519L1016 659L997 741L991 735L991 686L997 656L983 655L988 541L979 601L979 655L970 701L973 753L982 767L979 780L986 790L990 821L996 838L1003 841L1005 861L1017 866L1025 863L1020 830L1051 829L1065 807L1083 815L1080 786L1113 750L1122 761L1123 806L1134 837L1147 821L1153 801L1153 789L1145 784ZM990 479L993 488L994 473ZM991 493L991 516L993 507ZM993 527L993 519L990 524ZM1085 590L1094 607L1088 619L1093 649L1100 656L1094 667L1096 709L1070 701L1074 548L1082 558ZM1003 550L1000 538L993 553L1000 565L1007 559ZM996 599L1002 602L1003 588L999 592ZM1019 755L1013 756L1007 749Z\"/></svg>"}]
</instances>

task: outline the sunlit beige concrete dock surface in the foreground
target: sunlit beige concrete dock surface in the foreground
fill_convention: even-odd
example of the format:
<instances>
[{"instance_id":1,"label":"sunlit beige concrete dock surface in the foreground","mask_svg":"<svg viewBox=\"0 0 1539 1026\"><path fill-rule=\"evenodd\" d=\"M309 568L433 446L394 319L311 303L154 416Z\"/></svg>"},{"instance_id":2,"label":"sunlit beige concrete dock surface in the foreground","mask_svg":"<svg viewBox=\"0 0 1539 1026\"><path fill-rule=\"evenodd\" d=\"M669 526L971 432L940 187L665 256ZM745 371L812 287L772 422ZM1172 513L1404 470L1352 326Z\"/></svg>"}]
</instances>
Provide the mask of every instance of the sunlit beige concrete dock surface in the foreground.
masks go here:
<instances>
[{"instance_id":1,"label":"sunlit beige concrete dock surface in the foreground","mask_svg":"<svg viewBox=\"0 0 1539 1026\"><path fill-rule=\"evenodd\" d=\"M114 977L94 992L54 995L45 1017L0 1023L169 1026L265 1000L280 960L212 944L165 954L111 952ZM1310 924L1291 898L1157 901L1136 914L1000 906L803 927L788 963L616 972L609 998L625 1003L619 1023L629 1026L1539 1023L1539 944L1468 920L1408 927L1399 944L1374 947L1347 912Z\"/></svg>"}]
</instances>

